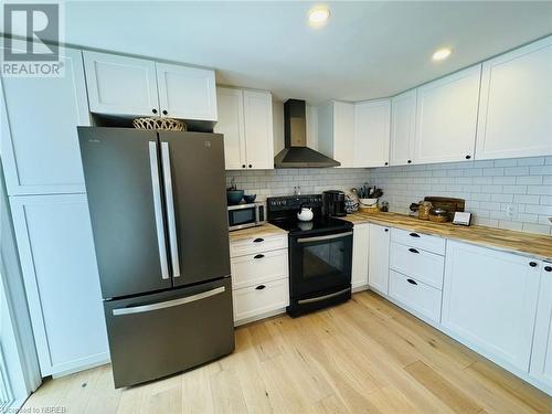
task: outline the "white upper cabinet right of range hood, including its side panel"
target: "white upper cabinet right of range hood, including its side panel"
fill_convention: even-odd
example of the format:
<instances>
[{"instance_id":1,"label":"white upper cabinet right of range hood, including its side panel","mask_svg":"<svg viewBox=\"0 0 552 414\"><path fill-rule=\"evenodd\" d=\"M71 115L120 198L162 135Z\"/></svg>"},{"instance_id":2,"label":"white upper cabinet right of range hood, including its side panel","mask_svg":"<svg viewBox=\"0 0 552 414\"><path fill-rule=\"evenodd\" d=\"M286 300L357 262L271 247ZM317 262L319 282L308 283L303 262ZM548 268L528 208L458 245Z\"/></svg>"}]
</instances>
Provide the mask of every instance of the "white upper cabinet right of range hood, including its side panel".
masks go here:
<instances>
[{"instance_id":1,"label":"white upper cabinet right of range hood, including its side panel","mask_svg":"<svg viewBox=\"0 0 552 414\"><path fill-rule=\"evenodd\" d=\"M333 100L318 109L318 149L341 162L354 167L354 105Z\"/></svg>"}]
</instances>

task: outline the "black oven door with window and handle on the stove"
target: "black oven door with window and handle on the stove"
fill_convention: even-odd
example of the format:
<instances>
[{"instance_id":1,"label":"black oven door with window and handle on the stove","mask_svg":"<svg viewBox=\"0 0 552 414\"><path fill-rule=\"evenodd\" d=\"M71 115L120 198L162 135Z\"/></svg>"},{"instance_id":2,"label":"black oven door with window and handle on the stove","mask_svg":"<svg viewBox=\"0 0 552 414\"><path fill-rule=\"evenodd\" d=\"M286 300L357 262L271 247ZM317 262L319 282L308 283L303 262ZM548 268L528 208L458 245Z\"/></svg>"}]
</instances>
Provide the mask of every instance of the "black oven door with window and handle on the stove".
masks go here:
<instances>
[{"instance_id":1,"label":"black oven door with window and handle on the stove","mask_svg":"<svg viewBox=\"0 0 552 414\"><path fill-rule=\"evenodd\" d=\"M352 230L289 238L293 300L314 302L350 290Z\"/></svg>"}]
</instances>

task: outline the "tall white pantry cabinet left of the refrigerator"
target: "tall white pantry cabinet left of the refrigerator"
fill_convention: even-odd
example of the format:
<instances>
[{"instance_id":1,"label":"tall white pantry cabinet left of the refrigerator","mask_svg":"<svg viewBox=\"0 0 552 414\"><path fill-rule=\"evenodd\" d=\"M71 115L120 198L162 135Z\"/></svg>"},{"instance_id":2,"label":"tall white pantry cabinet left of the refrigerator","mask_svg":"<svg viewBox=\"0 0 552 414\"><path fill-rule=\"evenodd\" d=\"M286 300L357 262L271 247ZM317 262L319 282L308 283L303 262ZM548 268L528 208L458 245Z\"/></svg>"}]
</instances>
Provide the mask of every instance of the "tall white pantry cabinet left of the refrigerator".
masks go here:
<instances>
[{"instance_id":1,"label":"tall white pantry cabinet left of the refrigerator","mask_svg":"<svg viewBox=\"0 0 552 414\"><path fill-rule=\"evenodd\" d=\"M108 361L78 148L88 126L81 51L63 77L1 78L1 157L41 373Z\"/></svg>"}]
</instances>

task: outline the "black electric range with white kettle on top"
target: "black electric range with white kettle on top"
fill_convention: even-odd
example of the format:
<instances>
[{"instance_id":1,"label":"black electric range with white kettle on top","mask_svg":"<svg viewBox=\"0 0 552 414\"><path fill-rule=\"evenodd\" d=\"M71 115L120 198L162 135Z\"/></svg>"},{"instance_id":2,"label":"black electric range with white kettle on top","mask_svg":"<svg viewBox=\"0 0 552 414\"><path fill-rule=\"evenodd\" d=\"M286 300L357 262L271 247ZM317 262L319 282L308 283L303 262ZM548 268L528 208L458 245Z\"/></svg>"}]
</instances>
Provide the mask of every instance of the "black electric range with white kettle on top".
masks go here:
<instances>
[{"instance_id":1,"label":"black electric range with white kettle on top","mask_svg":"<svg viewBox=\"0 0 552 414\"><path fill-rule=\"evenodd\" d=\"M268 222L288 232L289 306L300 316L351 298L352 223L325 217L322 197L267 199ZM297 219L301 206L312 209L309 222Z\"/></svg>"}]
</instances>

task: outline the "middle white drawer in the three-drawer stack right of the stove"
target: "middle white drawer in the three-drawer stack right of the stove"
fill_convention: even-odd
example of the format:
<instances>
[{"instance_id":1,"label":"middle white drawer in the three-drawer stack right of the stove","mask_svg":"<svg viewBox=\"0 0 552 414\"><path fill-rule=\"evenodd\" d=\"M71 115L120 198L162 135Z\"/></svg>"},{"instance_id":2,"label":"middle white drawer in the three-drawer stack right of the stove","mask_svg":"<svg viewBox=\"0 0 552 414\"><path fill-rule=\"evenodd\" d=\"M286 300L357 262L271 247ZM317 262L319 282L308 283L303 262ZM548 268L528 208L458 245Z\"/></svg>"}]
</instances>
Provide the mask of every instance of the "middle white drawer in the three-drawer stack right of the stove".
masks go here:
<instances>
[{"instance_id":1,"label":"middle white drawer in the three-drawer stack right of the stove","mask_svg":"<svg viewBox=\"0 0 552 414\"><path fill-rule=\"evenodd\" d=\"M390 267L437 289L443 288L444 256L391 242Z\"/></svg>"}]
</instances>

